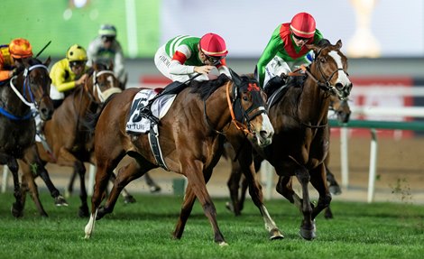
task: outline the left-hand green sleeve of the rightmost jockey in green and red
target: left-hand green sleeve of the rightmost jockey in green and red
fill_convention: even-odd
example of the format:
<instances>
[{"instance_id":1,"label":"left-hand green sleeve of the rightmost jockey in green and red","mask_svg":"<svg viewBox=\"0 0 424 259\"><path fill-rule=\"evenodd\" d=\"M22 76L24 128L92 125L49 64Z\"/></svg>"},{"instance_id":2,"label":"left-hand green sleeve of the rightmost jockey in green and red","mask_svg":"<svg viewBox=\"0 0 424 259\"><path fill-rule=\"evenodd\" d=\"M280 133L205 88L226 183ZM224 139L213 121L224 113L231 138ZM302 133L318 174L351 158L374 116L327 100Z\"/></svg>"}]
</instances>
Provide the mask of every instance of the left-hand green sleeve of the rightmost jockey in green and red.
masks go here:
<instances>
[{"instance_id":1,"label":"left-hand green sleeve of the rightmost jockey in green and red","mask_svg":"<svg viewBox=\"0 0 424 259\"><path fill-rule=\"evenodd\" d=\"M258 60L256 64L257 73L259 76L259 84L263 87L263 80L265 79L265 66L277 55L277 52L281 50L284 46L284 42L280 37L280 26L278 26L274 32L272 32L272 36L270 42L265 47L261 58Z\"/></svg>"}]
</instances>

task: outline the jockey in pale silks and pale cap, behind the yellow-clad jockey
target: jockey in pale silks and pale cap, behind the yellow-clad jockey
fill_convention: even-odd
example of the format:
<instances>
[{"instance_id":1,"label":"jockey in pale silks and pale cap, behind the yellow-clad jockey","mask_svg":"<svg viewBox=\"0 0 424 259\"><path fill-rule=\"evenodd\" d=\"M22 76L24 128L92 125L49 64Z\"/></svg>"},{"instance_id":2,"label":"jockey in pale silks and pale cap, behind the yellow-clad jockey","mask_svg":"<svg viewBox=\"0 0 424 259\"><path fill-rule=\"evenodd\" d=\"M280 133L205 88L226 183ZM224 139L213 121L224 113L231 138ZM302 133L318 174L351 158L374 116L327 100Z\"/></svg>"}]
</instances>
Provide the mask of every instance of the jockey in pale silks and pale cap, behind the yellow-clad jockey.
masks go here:
<instances>
[{"instance_id":1,"label":"jockey in pale silks and pale cap, behind the yellow-clad jockey","mask_svg":"<svg viewBox=\"0 0 424 259\"><path fill-rule=\"evenodd\" d=\"M124 87L127 73L124 69L124 52L121 44L116 40L116 28L114 25L103 24L98 30L96 39L88 45L88 66L94 62L104 63L106 66L110 62L114 65L114 72L119 82Z\"/></svg>"}]
</instances>

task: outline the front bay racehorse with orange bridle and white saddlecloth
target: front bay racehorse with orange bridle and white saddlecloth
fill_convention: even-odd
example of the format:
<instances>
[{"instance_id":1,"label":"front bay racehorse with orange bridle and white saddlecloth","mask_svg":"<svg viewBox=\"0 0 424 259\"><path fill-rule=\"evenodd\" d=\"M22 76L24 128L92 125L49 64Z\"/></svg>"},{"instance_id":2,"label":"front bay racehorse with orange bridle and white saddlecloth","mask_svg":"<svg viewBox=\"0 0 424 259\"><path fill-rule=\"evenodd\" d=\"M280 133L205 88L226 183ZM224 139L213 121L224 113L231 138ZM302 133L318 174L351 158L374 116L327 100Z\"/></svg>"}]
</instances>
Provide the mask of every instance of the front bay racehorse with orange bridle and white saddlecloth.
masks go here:
<instances>
[{"instance_id":1,"label":"front bay racehorse with orange bridle and white saddlecloth","mask_svg":"<svg viewBox=\"0 0 424 259\"><path fill-rule=\"evenodd\" d=\"M254 80L241 77L234 72L232 79L226 75L216 80L191 81L175 98L168 114L161 118L159 125L161 154L169 171L175 171L188 179L188 186L173 237L180 239L197 198L208 218L215 236L215 242L226 245L224 236L217 225L217 212L207 192L207 181L221 154L225 136L236 144L244 133L247 138L264 146L270 143L273 129L264 111L264 93ZM125 133L125 118L132 100L139 89L129 88L116 95L104 108L98 118L95 134L97 175L92 197L91 216L85 227L86 238L94 230L95 220L113 211L120 190L131 180L141 177L146 171L159 167L152 154L146 134ZM243 132L242 132L243 131ZM118 171L114 187L104 207L100 203L106 189L106 182L115 166L125 153L134 158ZM252 153L250 162L253 167ZM249 172L254 180L254 171ZM262 203L259 182L255 187L256 199L261 199L260 211L265 227L272 238L281 234Z\"/></svg>"}]
</instances>

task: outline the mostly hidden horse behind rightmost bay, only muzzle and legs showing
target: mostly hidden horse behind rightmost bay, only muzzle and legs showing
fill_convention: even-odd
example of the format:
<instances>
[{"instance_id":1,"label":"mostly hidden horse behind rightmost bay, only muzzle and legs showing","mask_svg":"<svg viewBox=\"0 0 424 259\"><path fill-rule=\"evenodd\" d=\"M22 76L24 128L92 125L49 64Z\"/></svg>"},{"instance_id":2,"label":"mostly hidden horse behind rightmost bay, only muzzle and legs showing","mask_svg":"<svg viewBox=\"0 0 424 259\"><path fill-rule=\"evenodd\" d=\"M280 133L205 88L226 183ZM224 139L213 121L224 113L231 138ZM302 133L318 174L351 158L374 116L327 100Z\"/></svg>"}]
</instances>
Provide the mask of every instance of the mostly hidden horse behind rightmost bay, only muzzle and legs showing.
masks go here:
<instances>
[{"instance_id":1,"label":"mostly hidden horse behind rightmost bay, only muzzle and legs showing","mask_svg":"<svg viewBox=\"0 0 424 259\"><path fill-rule=\"evenodd\" d=\"M341 100L337 96L330 96L330 106L329 109L334 111L334 114L337 120L341 123L347 123L352 111L346 100ZM230 202L226 203L226 208L231 210L235 216L240 216L241 211L244 208L245 193L247 190L247 180L243 177L243 172L241 170L240 164L238 161L234 161L233 158L237 155L232 145L226 143L224 145L224 154L223 156L231 160L231 173L227 181L228 190L230 192ZM327 171L327 183L328 189L332 194L338 195L341 193L340 186L336 181L336 177L329 170L329 153L327 154L326 160L324 161ZM255 171L259 171L261 164L263 162L263 157L259 155L254 156L254 168ZM330 207L328 206L325 210L326 218L333 218L333 213L331 212Z\"/></svg>"}]
</instances>

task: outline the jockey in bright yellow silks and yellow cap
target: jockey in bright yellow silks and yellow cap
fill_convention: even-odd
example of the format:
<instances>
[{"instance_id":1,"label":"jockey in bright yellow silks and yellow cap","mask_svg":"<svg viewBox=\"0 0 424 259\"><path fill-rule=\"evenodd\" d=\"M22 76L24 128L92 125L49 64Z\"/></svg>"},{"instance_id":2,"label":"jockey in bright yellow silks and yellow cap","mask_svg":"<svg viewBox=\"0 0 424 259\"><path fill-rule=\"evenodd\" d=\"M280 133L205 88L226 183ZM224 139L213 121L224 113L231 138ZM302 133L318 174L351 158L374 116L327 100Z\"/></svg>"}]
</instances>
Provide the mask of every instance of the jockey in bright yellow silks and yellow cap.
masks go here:
<instances>
[{"instance_id":1,"label":"jockey in bright yellow silks and yellow cap","mask_svg":"<svg viewBox=\"0 0 424 259\"><path fill-rule=\"evenodd\" d=\"M87 52L78 44L70 46L66 58L51 67L50 96L55 108L60 106L69 90L85 84L87 70Z\"/></svg>"}]
</instances>

